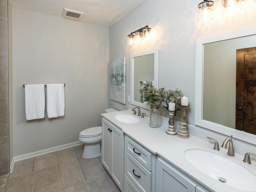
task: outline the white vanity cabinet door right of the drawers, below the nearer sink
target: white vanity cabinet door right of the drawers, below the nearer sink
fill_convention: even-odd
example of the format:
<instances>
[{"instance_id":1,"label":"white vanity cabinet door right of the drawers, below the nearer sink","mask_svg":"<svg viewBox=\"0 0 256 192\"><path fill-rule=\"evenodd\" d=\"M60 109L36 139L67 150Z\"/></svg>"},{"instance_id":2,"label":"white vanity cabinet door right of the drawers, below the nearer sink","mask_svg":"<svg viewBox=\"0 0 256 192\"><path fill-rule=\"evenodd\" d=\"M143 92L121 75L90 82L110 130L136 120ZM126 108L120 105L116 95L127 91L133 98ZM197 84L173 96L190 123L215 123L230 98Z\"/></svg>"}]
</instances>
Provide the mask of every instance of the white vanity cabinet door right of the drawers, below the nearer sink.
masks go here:
<instances>
[{"instance_id":1,"label":"white vanity cabinet door right of the drawers, below the nearer sink","mask_svg":"<svg viewBox=\"0 0 256 192\"><path fill-rule=\"evenodd\" d=\"M162 160L162 158L158 157L156 159L157 192L200 192L200 190L196 190L196 186L187 176Z\"/></svg>"}]
</instances>

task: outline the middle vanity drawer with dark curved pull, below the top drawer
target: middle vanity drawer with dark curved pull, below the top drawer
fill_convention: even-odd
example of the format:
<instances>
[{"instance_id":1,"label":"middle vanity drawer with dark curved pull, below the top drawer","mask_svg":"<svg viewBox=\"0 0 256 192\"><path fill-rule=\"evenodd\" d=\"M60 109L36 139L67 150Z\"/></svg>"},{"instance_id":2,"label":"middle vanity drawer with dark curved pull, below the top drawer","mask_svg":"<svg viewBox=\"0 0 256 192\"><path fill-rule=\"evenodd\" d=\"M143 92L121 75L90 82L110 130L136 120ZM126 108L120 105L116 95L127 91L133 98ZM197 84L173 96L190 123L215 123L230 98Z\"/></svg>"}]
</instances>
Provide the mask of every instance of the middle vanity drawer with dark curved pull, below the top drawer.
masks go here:
<instances>
[{"instance_id":1,"label":"middle vanity drawer with dark curved pull, below the top drawer","mask_svg":"<svg viewBox=\"0 0 256 192\"><path fill-rule=\"evenodd\" d=\"M125 151L125 175L140 192L152 191L152 173Z\"/></svg>"}]
</instances>

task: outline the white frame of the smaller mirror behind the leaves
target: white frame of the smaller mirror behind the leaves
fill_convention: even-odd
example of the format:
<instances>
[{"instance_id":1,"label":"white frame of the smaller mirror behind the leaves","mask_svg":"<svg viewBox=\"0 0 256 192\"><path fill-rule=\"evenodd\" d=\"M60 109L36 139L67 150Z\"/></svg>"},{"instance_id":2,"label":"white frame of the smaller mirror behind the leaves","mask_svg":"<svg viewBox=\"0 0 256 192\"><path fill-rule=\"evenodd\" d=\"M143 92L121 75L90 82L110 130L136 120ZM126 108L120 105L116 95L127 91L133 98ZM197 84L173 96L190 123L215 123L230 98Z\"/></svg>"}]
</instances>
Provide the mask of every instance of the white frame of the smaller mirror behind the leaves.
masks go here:
<instances>
[{"instance_id":1,"label":"white frame of the smaller mirror behind the leaves","mask_svg":"<svg viewBox=\"0 0 256 192\"><path fill-rule=\"evenodd\" d=\"M139 57L139 56L144 56L144 55L149 55L149 54L154 54L154 82L153 82L153 85L155 88L158 89L158 66L159 66L159 50L158 49L153 49L153 50L148 50L148 51L144 51L144 52L140 52L140 53L133 53L131 54L131 101L130 103L132 105L136 105L136 106L140 106L142 108L145 108L145 109L149 109L149 106L144 104L144 103L140 103L140 102L137 102L137 101L134 101L134 57Z\"/></svg>"}]
</instances>

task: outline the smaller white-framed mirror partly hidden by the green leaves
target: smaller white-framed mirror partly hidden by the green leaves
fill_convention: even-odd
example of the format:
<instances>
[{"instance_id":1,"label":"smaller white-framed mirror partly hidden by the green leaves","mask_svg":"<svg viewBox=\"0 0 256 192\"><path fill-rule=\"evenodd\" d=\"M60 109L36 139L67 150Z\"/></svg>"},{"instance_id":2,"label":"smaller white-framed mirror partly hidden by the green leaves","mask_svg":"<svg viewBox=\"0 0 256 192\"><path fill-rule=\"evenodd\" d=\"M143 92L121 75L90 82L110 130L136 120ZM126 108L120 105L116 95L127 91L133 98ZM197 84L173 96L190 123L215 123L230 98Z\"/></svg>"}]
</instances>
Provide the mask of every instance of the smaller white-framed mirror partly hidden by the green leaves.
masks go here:
<instances>
[{"instance_id":1,"label":"smaller white-framed mirror partly hidden by the green leaves","mask_svg":"<svg viewBox=\"0 0 256 192\"><path fill-rule=\"evenodd\" d=\"M158 49L131 54L131 104L149 109L140 98L142 82L158 88Z\"/></svg>"}]
</instances>

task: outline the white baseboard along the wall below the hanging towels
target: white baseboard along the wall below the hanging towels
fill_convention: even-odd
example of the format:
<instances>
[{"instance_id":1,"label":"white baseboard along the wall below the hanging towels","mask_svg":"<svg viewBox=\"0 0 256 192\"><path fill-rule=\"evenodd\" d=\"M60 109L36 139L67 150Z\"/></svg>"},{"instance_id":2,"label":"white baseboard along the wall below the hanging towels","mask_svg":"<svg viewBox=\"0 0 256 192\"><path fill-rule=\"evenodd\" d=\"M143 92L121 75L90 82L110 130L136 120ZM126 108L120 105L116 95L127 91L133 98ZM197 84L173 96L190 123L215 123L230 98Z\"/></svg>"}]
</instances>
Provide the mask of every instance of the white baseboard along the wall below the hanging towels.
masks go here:
<instances>
[{"instance_id":1,"label":"white baseboard along the wall below the hanging towels","mask_svg":"<svg viewBox=\"0 0 256 192\"><path fill-rule=\"evenodd\" d=\"M76 141L76 142L72 142L72 143L68 143L68 144L64 144L64 145L60 145L60 146L56 146L56 147L52 147L52 148L48 148L48 149L44 149L44 150L40 150L40 151L35 151L35 152L32 152L32 153L27 153L27 154L23 154L23 155L19 155L19 156L14 156L12 158L12 162L10 164L10 173L12 172L12 169L14 167L14 163L16 161L28 159L28 158L31 158L31 157L43 155L43 154L46 154L46 153L50 153L50 152L54 152L54 151L58 151L58 150L62 150L62 149L66 149L66 148L70 148L70 147L74 147L74 146L78 146L78 145L81 145L81 144L82 143L80 141Z\"/></svg>"}]
</instances>

